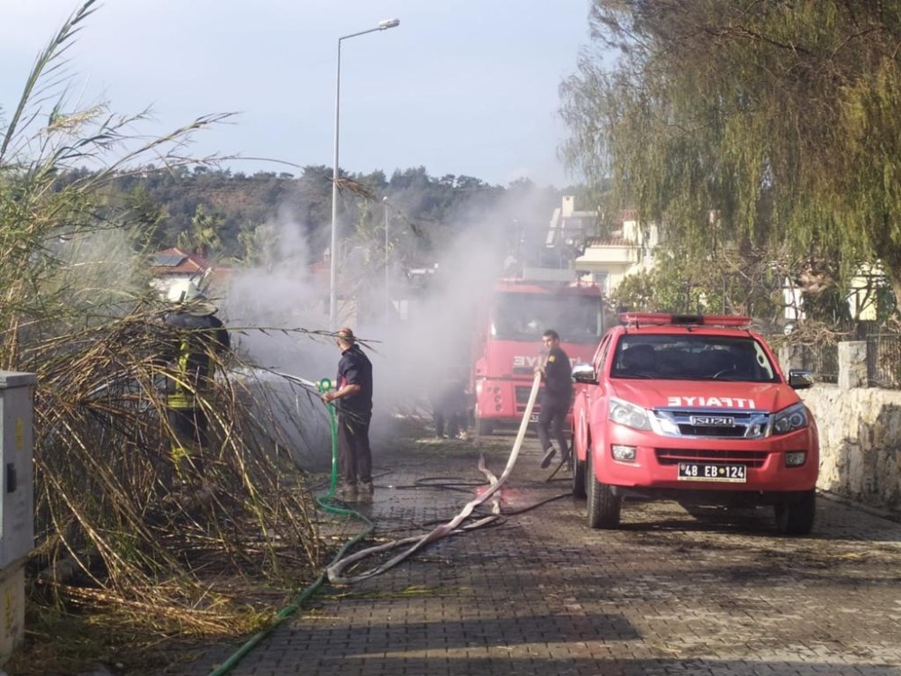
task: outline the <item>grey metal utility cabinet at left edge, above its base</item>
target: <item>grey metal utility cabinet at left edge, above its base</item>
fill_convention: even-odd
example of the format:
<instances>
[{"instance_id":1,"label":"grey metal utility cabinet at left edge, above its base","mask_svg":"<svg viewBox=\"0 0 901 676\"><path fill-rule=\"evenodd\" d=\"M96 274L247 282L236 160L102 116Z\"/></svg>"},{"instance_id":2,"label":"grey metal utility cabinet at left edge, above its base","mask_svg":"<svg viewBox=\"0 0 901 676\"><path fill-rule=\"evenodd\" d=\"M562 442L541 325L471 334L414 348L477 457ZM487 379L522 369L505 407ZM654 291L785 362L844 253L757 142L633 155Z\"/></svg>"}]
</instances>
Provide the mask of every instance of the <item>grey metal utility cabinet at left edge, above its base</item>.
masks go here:
<instances>
[{"instance_id":1,"label":"grey metal utility cabinet at left edge, above its base","mask_svg":"<svg viewBox=\"0 0 901 676\"><path fill-rule=\"evenodd\" d=\"M33 373L0 370L0 570L34 547Z\"/></svg>"}]
</instances>

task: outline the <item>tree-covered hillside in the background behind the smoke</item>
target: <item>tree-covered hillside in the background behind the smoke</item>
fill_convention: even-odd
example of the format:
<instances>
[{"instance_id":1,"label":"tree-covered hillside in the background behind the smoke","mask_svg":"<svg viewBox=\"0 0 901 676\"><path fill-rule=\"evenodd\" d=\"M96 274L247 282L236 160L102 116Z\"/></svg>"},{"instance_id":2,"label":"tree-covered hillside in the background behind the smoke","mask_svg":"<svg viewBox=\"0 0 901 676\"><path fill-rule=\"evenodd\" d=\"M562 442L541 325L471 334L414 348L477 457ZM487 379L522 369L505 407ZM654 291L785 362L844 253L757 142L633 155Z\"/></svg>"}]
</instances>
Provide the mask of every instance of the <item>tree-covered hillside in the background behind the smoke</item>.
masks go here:
<instances>
[{"instance_id":1,"label":"tree-covered hillside in the background behind the smoke","mask_svg":"<svg viewBox=\"0 0 901 676\"><path fill-rule=\"evenodd\" d=\"M59 178L63 187L85 178L78 169ZM480 221L504 219L511 246L517 238L541 242L562 192L527 179L507 187L469 176L430 176L424 167L369 174L341 173L339 209L344 236L381 242L384 205L392 218L397 260L409 268L429 265L452 238ZM263 231L275 221L296 224L308 263L322 260L330 245L332 168L308 166L294 176L250 176L205 165L160 171L148 167L115 178L109 199L141 224L151 249L179 246L222 263L259 262ZM486 224L487 226L487 224ZM375 241L370 242L375 245Z\"/></svg>"}]
</instances>

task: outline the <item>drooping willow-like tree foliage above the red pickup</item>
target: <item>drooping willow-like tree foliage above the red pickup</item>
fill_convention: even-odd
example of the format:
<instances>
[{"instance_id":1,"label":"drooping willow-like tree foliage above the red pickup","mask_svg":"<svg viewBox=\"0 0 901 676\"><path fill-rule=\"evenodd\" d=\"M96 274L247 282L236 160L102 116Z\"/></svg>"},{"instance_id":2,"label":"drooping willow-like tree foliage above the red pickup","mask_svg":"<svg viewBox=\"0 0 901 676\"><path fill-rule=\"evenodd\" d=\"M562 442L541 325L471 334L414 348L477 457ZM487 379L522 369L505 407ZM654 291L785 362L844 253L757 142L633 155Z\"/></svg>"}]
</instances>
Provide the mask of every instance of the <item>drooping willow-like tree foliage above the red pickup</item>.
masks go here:
<instances>
[{"instance_id":1,"label":"drooping willow-like tree foliage above the red pickup","mask_svg":"<svg viewBox=\"0 0 901 676\"><path fill-rule=\"evenodd\" d=\"M880 260L901 297L901 6L595 0L590 21L561 86L570 168L696 258L715 213L736 251L829 261L836 289Z\"/></svg>"}]
</instances>

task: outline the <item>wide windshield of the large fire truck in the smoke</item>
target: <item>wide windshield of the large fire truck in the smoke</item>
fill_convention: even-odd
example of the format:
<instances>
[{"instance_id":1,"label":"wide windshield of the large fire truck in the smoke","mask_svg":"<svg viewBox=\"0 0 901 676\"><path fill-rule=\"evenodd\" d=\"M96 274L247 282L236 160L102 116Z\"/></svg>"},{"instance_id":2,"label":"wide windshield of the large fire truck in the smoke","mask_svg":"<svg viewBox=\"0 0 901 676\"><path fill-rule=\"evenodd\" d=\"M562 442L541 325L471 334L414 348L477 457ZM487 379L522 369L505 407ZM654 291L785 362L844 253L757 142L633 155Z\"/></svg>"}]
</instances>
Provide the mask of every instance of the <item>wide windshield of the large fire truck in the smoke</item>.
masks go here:
<instances>
[{"instance_id":1,"label":"wide windshield of the large fire truck in the smoke","mask_svg":"<svg viewBox=\"0 0 901 676\"><path fill-rule=\"evenodd\" d=\"M499 293L491 313L495 340L539 342L554 329L563 343L596 344L603 331L600 296Z\"/></svg>"}]
</instances>

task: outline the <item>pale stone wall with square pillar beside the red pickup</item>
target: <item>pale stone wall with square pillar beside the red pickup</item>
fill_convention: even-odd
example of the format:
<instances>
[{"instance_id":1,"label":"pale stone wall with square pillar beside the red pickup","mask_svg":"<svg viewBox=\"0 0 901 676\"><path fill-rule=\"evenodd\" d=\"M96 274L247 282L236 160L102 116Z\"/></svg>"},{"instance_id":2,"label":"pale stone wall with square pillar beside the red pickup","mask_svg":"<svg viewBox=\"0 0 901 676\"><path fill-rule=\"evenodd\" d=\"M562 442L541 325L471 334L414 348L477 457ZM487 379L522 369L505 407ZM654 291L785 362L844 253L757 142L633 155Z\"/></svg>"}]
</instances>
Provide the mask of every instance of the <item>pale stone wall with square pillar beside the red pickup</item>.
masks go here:
<instances>
[{"instance_id":1,"label":"pale stone wall with square pillar beside the red pickup","mask_svg":"<svg viewBox=\"0 0 901 676\"><path fill-rule=\"evenodd\" d=\"M779 358L787 373L795 355ZM837 385L798 394L820 431L819 488L901 516L901 391L867 387L865 343L839 344Z\"/></svg>"}]
</instances>

